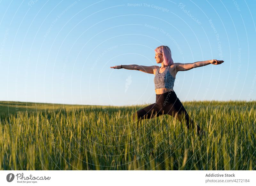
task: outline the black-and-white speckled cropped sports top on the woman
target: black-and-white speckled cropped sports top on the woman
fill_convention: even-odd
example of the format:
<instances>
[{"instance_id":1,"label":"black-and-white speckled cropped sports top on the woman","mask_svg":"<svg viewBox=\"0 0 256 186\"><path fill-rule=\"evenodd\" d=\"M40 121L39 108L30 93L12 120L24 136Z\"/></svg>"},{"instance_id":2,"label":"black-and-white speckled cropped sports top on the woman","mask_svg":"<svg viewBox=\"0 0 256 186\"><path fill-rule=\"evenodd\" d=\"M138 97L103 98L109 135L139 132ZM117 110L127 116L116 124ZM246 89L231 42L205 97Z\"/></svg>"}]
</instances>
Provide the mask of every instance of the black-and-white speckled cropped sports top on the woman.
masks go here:
<instances>
[{"instance_id":1,"label":"black-and-white speckled cropped sports top on the woman","mask_svg":"<svg viewBox=\"0 0 256 186\"><path fill-rule=\"evenodd\" d=\"M163 73L159 73L160 67L156 70L154 77L155 89L173 89L175 78L170 74L169 67L166 66Z\"/></svg>"}]
</instances>

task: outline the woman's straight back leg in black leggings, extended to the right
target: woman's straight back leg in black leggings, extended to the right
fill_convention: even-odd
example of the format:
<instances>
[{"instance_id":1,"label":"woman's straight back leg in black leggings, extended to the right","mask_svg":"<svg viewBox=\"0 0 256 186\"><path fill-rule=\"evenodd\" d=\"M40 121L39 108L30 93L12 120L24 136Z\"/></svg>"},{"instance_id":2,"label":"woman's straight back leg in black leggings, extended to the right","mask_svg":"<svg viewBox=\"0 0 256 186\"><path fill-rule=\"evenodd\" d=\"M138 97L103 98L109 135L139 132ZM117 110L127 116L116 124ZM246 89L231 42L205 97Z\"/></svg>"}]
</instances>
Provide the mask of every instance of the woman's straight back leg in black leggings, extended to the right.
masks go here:
<instances>
[{"instance_id":1,"label":"woman's straight back leg in black leggings, extended to the right","mask_svg":"<svg viewBox=\"0 0 256 186\"><path fill-rule=\"evenodd\" d=\"M167 98L168 97L168 98ZM180 102L175 92L170 92L169 96L166 96L166 100L163 103L164 113L173 116L180 122L185 120L188 129L194 129L196 126L194 121L190 119L186 109ZM197 126L197 134L201 133L201 129Z\"/></svg>"}]
</instances>

